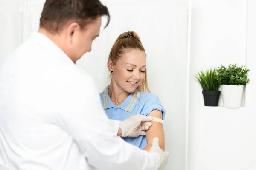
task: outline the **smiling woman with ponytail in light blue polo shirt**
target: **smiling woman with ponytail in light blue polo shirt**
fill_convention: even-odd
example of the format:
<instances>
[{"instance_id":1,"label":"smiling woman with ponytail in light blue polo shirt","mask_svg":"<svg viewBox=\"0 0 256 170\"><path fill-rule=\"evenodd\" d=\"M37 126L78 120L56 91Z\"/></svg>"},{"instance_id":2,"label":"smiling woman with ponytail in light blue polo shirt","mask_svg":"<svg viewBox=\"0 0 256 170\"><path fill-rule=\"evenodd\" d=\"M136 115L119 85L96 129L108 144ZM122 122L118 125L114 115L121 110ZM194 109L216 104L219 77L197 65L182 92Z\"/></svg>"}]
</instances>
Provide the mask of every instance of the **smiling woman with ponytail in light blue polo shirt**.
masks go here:
<instances>
[{"instance_id":1,"label":"smiling woman with ponytail in light blue polo shirt","mask_svg":"<svg viewBox=\"0 0 256 170\"><path fill-rule=\"evenodd\" d=\"M135 114L162 120L165 118L165 109L160 100L148 88L145 49L136 32L125 32L116 39L108 57L108 71L111 72L111 83L100 96L109 119L125 120ZM146 136L123 139L149 150L154 137L158 137L159 145L164 150L161 122L152 122Z\"/></svg>"}]
</instances>

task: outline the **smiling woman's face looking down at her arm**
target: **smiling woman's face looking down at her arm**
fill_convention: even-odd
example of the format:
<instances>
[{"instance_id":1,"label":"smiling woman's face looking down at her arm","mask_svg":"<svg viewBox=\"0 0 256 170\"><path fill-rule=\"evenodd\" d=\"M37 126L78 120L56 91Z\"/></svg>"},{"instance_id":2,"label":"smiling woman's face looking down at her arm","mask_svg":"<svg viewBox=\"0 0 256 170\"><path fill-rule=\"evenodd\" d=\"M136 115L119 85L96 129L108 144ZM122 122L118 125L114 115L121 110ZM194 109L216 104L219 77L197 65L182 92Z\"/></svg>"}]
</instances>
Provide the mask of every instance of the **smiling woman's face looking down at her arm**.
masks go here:
<instances>
[{"instance_id":1,"label":"smiling woman's face looking down at her arm","mask_svg":"<svg viewBox=\"0 0 256 170\"><path fill-rule=\"evenodd\" d=\"M112 68L113 83L115 83L122 91L132 93L145 77L145 52L137 49L126 50Z\"/></svg>"}]
</instances>

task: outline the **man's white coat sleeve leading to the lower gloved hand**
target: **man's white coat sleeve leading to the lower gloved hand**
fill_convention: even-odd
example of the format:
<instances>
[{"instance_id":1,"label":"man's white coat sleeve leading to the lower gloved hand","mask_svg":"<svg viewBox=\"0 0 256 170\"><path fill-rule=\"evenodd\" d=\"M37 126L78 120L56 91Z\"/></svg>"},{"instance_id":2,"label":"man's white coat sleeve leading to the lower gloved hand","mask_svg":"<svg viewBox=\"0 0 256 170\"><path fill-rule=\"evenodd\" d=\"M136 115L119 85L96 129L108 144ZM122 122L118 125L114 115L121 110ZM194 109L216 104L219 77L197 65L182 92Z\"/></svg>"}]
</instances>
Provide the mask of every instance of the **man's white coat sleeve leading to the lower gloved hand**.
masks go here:
<instances>
[{"instance_id":1,"label":"man's white coat sleeve leading to the lower gloved hand","mask_svg":"<svg viewBox=\"0 0 256 170\"><path fill-rule=\"evenodd\" d=\"M111 125L92 79L70 82L59 97L63 110L58 125L79 145L87 162L97 170L157 170L154 153L125 142ZM76 85L76 88L73 86ZM61 88L61 87L60 87Z\"/></svg>"}]
</instances>

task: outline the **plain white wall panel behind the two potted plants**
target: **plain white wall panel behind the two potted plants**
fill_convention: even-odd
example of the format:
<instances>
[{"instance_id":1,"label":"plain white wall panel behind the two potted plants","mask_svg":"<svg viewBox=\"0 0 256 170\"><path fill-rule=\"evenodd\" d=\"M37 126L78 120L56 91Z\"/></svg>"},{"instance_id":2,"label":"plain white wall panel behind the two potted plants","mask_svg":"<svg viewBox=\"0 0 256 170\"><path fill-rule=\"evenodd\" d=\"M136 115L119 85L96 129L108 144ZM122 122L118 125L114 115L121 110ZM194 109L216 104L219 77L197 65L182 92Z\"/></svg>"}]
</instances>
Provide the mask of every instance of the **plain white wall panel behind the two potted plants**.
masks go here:
<instances>
[{"instance_id":1,"label":"plain white wall panel behind the two potted plants","mask_svg":"<svg viewBox=\"0 0 256 170\"><path fill-rule=\"evenodd\" d=\"M255 170L256 1L192 0L191 5L188 170ZM196 72L234 62L251 70L245 106L204 107Z\"/></svg>"}]
</instances>

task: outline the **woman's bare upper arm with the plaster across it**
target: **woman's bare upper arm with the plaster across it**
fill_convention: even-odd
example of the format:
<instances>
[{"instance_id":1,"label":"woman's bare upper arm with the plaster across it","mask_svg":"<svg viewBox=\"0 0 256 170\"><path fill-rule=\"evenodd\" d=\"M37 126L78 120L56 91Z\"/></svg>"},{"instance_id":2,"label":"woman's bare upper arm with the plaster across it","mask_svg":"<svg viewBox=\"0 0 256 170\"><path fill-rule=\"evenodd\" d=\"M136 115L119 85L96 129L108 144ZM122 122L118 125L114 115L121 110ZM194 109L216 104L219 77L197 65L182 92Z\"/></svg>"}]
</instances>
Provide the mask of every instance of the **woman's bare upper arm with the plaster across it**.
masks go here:
<instances>
[{"instance_id":1,"label":"woman's bare upper arm with the plaster across it","mask_svg":"<svg viewBox=\"0 0 256 170\"><path fill-rule=\"evenodd\" d=\"M162 119L162 111L153 110L148 116ZM162 150L165 149L165 138L163 124L160 122L152 122L152 126L146 131L147 145L151 145L154 137L159 139L159 146Z\"/></svg>"}]
</instances>

